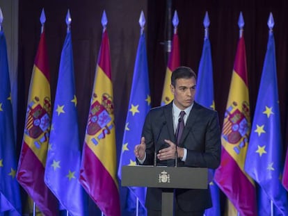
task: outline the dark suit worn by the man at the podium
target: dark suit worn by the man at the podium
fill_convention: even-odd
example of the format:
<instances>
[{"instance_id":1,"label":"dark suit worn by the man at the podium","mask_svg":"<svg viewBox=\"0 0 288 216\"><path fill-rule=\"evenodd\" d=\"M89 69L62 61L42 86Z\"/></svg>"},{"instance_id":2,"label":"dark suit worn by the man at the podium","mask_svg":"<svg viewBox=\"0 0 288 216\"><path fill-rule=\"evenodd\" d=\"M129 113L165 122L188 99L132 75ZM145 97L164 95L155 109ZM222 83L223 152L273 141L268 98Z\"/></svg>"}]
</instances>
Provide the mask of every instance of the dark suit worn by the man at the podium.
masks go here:
<instances>
[{"instance_id":1,"label":"dark suit worn by the man at the podium","mask_svg":"<svg viewBox=\"0 0 288 216\"><path fill-rule=\"evenodd\" d=\"M168 147L164 139L175 143L173 130L172 103L153 108L147 114L143 126L146 142L146 159L143 165L154 164L154 143L157 152ZM221 130L218 114L195 103L186 121L179 147L187 149L186 161L178 159L178 166L208 167L216 169L221 160ZM157 166L174 166L175 160L157 160ZM161 188L148 188L146 206L150 210L161 210ZM175 190L175 199L184 211L210 208L211 194L207 190Z\"/></svg>"}]
</instances>

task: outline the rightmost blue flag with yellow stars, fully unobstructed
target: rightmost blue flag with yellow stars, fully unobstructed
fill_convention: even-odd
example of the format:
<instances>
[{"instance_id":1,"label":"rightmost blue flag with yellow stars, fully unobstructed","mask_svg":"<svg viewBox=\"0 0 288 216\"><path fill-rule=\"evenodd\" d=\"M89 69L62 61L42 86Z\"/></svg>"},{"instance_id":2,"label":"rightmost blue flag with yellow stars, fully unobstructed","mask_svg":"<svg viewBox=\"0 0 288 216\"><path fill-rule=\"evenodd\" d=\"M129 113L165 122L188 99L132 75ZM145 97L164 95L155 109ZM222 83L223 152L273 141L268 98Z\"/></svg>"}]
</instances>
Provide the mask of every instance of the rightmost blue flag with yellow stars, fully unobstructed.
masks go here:
<instances>
[{"instance_id":1,"label":"rightmost blue flag with yellow stars, fully unobstructed","mask_svg":"<svg viewBox=\"0 0 288 216\"><path fill-rule=\"evenodd\" d=\"M274 208L277 208L274 213L279 211L282 215L288 215L287 194L281 184L283 163L280 131L275 42L271 31L259 86L245 170L261 187L262 196L267 197L259 200L269 199ZM261 210L261 215L264 215L265 212L271 215L272 205L259 204L259 206L266 208Z\"/></svg>"}]
</instances>

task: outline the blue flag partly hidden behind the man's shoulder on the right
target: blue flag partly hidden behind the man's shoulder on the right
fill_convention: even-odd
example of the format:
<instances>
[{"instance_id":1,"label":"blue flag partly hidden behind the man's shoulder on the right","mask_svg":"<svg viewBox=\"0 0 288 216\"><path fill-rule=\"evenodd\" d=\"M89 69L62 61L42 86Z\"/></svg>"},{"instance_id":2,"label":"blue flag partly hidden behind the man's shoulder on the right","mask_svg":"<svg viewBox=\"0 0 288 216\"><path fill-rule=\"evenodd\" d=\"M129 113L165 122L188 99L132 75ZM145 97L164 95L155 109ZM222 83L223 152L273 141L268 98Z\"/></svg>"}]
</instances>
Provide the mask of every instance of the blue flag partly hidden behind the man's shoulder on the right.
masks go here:
<instances>
[{"instance_id":1,"label":"blue flag partly hidden behind the man's shoulder on the right","mask_svg":"<svg viewBox=\"0 0 288 216\"><path fill-rule=\"evenodd\" d=\"M209 38L205 38L200 65L198 69L198 78L196 85L195 101L207 108L215 109L214 104L214 85L213 85L213 67L211 58L211 44ZM214 170L209 169L211 176L214 176ZM205 210L206 216L220 216L220 197L219 188L214 181L209 183L213 207Z\"/></svg>"}]
</instances>

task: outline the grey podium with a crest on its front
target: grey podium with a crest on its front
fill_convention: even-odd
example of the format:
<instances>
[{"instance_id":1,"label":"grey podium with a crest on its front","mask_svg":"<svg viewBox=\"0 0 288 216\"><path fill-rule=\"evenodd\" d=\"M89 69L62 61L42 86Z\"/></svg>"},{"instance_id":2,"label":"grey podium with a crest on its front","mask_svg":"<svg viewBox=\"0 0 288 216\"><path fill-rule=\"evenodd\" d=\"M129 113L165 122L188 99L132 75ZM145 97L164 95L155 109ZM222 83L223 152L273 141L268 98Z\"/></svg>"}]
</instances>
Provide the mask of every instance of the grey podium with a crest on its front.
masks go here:
<instances>
[{"instance_id":1,"label":"grey podium with a crest on its front","mask_svg":"<svg viewBox=\"0 0 288 216\"><path fill-rule=\"evenodd\" d=\"M207 189L208 169L200 167L122 166L122 186L167 188L162 192L162 216L173 216L175 188Z\"/></svg>"}]
</instances>

